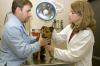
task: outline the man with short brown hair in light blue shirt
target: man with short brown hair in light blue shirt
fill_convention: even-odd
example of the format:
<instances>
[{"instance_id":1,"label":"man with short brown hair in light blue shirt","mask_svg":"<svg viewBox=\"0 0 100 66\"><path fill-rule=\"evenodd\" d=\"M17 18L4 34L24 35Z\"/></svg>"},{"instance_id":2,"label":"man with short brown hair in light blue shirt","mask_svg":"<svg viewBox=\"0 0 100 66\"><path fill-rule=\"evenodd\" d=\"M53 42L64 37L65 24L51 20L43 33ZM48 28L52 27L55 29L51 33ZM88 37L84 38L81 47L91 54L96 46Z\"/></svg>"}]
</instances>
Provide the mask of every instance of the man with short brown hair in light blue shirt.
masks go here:
<instances>
[{"instance_id":1,"label":"man with short brown hair in light blue shirt","mask_svg":"<svg viewBox=\"0 0 100 66\"><path fill-rule=\"evenodd\" d=\"M23 24L31 16L32 4L29 0L13 0L13 15L6 22L0 45L0 66L20 66L26 58L39 51L49 40L39 38L36 42L26 33Z\"/></svg>"}]
</instances>

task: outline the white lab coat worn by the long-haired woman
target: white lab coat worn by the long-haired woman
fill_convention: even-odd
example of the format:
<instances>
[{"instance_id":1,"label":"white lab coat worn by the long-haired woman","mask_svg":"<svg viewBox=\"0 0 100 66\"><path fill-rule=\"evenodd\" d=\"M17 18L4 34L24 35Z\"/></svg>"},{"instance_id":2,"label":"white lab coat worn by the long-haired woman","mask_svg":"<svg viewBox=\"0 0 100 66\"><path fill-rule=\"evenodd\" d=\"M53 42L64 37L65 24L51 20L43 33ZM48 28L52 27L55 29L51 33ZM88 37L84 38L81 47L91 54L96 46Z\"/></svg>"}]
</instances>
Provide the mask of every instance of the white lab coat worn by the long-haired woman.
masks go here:
<instances>
[{"instance_id":1,"label":"white lab coat worn by the long-haired woman","mask_svg":"<svg viewBox=\"0 0 100 66\"><path fill-rule=\"evenodd\" d=\"M94 35L91 29L80 31L69 41L72 28L66 26L60 33L53 32L52 38L56 43L66 43L65 50L55 48L54 57L63 60L71 66L92 66L92 53L94 45Z\"/></svg>"}]
</instances>

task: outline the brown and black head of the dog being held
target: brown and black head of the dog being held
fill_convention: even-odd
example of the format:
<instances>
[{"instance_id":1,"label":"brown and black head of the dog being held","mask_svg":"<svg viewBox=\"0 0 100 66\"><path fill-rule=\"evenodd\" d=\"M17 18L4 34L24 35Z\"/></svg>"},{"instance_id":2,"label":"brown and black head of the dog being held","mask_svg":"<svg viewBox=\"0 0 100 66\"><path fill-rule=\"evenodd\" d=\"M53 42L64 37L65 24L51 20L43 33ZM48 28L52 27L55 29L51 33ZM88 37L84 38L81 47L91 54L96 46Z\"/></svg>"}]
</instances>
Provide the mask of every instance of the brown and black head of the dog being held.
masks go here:
<instances>
[{"instance_id":1,"label":"brown and black head of the dog being held","mask_svg":"<svg viewBox=\"0 0 100 66\"><path fill-rule=\"evenodd\" d=\"M40 34L42 35L43 38L51 39L53 29L54 29L53 27L43 26L40 30Z\"/></svg>"}]
</instances>

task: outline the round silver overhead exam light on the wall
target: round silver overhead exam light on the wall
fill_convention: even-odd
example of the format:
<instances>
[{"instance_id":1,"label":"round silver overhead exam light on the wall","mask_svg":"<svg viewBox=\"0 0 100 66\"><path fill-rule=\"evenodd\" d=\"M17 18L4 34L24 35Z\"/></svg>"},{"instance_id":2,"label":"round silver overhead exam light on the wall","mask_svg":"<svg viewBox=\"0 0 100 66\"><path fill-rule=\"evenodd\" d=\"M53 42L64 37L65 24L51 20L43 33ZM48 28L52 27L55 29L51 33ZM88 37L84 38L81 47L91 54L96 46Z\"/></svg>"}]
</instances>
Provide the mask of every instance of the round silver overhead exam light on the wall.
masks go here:
<instances>
[{"instance_id":1,"label":"round silver overhead exam light on the wall","mask_svg":"<svg viewBox=\"0 0 100 66\"><path fill-rule=\"evenodd\" d=\"M56 15L55 7L49 2L41 2L36 7L37 16L45 21L52 20Z\"/></svg>"}]
</instances>

